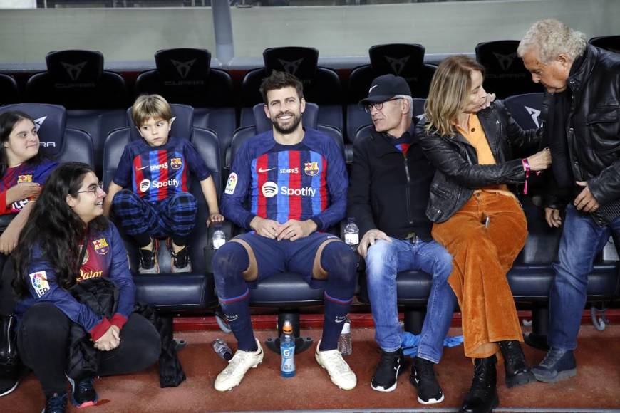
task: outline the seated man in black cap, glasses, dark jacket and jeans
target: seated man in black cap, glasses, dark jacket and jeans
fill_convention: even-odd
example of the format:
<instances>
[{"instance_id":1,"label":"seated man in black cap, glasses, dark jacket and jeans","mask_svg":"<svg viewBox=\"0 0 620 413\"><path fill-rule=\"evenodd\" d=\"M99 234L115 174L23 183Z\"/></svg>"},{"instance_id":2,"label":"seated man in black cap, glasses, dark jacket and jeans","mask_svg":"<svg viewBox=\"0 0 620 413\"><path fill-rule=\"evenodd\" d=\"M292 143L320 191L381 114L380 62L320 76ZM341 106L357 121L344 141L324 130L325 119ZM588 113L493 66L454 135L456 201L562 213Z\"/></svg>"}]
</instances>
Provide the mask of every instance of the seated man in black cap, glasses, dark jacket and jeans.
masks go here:
<instances>
[{"instance_id":1,"label":"seated man in black cap, glasses, dark jacket and jeans","mask_svg":"<svg viewBox=\"0 0 620 413\"><path fill-rule=\"evenodd\" d=\"M356 219L362 236L358 252L366 258L368 295L381 347L371 386L380 392L396 389L404 361L396 275L424 271L433 276L433 285L410 382L418 388L418 402L438 403L444 397L433 365L443 352L455 296L448 285L452 256L431 238L432 223L425 215L435 168L415 137L405 79L379 76L360 105L370 113L374 130L353 145L348 216Z\"/></svg>"}]
</instances>

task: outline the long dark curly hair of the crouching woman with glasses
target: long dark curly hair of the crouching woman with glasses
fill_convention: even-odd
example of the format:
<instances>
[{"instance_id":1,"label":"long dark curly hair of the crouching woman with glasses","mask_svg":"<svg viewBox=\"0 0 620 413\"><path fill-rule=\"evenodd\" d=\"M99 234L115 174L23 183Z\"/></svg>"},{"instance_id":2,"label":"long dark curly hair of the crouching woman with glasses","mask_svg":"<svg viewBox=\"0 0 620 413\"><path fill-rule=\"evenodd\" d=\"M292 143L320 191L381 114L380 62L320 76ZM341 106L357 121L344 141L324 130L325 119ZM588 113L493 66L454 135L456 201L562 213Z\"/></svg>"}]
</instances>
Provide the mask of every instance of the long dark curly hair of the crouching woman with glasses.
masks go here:
<instances>
[{"instance_id":1,"label":"long dark curly hair of the crouching woman with glasses","mask_svg":"<svg viewBox=\"0 0 620 413\"><path fill-rule=\"evenodd\" d=\"M29 268L33 258L51 264L56 271L58 286L68 288L73 285L81 266L78 262L81 245L88 231L107 228L108 219L103 216L98 216L86 226L66 202L68 195L78 197L88 172L93 172L90 165L68 162L49 175L12 254L17 274L14 288L18 296L24 297L28 291ZM35 248L41 251L41 256L33 257Z\"/></svg>"}]
</instances>

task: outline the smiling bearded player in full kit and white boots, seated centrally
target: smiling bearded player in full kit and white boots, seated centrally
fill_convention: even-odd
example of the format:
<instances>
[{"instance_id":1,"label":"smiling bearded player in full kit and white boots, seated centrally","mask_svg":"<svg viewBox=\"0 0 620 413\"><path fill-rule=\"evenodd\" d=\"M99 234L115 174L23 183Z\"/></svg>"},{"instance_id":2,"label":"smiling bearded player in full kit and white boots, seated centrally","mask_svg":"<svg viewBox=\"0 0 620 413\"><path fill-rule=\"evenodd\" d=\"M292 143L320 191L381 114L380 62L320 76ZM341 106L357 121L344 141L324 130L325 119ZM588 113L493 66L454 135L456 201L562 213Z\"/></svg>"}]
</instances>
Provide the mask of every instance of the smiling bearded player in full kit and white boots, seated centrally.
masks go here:
<instances>
[{"instance_id":1,"label":"smiling bearded player in full kit and white boots, seated centrally","mask_svg":"<svg viewBox=\"0 0 620 413\"><path fill-rule=\"evenodd\" d=\"M219 303L239 343L215 389L231 390L263 360L252 331L247 283L293 271L311 285L326 284L323 336L315 357L336 386L351 390L356 375L337 341L355 292L357 258L338 237L320 232L345 216L343 155L331 137L302 127L305 101L293 75L274 71L261 92L273 128L242 145L222 196L227 219L251 232L224 244L213 259Z\"/></svg>"}]
</instances>

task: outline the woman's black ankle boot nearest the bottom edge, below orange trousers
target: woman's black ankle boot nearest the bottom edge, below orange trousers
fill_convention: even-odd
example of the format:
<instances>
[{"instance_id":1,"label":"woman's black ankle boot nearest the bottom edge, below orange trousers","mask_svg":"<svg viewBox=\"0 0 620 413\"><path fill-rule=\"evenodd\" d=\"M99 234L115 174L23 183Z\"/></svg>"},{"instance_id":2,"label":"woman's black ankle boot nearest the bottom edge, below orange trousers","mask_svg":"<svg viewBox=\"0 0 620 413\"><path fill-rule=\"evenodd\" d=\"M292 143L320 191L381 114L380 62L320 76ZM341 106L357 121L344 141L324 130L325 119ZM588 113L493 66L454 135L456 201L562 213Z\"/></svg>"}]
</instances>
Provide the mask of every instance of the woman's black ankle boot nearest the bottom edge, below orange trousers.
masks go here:
<instances>
[{"instance_id":1,"label":"woman's black ankle boot nearest the bottom edge, below orange trousers","mask_svg":"<svg viewBox=\"0 0 620 413\"><path fill-rule=\"evenodd\" d=\"M495 355L474 360L472 387L467 396L465 396L460 412L489 413L500 404L500 398L497 397L496 363L497 357Z\"/></svg>"}]
</instances>

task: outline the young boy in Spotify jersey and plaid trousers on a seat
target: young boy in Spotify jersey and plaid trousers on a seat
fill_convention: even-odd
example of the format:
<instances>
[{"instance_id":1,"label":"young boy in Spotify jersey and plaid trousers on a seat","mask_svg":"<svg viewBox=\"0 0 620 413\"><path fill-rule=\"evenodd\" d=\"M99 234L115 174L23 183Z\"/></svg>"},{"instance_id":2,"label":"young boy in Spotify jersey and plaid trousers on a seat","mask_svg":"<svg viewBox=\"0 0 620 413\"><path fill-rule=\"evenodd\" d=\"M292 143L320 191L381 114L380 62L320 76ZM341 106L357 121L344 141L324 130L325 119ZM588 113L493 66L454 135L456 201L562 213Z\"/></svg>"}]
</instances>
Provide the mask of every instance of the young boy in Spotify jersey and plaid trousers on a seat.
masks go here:
<instances>
[{"instance_id":1,"label":"young boy in Spotify jersey and plaid trousers on a seat","mask_svg":"<svg viewBox=\"0 0 620 413\"><path fill-rule=\"evenodd\" d=\"M138 243L140 273L159 273L160 238L167 238L172 272L190 272L187 239L197 212L189 192L190 172L200 181L209 206L207 226L224 220L213 178L188 140L168 136L172 110L162 96L140 96L131 107L131 117L143 139L125 147L105 197L104 214L108 216L111 206L119 226Z\"/></svg>"}]
</instances>

